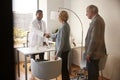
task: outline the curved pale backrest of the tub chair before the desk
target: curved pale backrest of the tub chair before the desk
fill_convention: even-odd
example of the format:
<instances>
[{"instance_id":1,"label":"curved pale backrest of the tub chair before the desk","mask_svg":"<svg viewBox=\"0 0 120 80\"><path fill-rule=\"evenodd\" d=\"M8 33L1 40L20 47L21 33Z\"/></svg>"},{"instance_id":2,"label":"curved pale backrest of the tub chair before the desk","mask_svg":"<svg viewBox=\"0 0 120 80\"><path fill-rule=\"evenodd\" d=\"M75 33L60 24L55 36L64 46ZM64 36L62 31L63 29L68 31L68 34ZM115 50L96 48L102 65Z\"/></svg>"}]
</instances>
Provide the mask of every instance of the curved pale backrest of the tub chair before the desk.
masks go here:
<instances>
[{"instance_id":1,"label":"curved pale backrest of the tub chair before the desk","mask_svg":"<svg viewBox=\"0 0 120 80\"><path fill-rule=\"evenodd\" d=\"M61 58L54 61L41 62L35 62L35 60L31 59L31 72L33 76L39 79L53 79L61 74L61 65Z\"/></svg>"}]
</instances>

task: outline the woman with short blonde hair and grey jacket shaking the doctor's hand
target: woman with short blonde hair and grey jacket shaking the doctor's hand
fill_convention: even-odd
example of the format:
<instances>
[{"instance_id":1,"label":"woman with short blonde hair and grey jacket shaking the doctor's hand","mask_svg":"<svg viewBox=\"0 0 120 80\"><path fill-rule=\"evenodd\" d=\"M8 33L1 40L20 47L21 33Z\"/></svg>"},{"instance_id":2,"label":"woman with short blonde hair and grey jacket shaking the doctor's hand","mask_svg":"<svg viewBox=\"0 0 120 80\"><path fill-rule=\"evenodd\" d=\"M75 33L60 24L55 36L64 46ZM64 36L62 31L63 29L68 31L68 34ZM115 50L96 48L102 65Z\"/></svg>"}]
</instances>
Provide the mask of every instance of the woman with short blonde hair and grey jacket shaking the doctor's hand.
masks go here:
<instances>
[{"instance_id":1,"label":"woman with short blonde hair and grey jacket shaking the doctor's hand","mask_svg":"<svg viewBox=\"0 0 120 80\"><path fill-rule=\"evenodd\" d=\"M70 37L70 26L67 23L68 13L61 11L59 14L59 21L61 26L57 33L49 35L49 37L56 39L56 57L62 58L62 80L70 80L68 71L68 55L71 50L69 37Z\"/></svg>"}]
</instances>

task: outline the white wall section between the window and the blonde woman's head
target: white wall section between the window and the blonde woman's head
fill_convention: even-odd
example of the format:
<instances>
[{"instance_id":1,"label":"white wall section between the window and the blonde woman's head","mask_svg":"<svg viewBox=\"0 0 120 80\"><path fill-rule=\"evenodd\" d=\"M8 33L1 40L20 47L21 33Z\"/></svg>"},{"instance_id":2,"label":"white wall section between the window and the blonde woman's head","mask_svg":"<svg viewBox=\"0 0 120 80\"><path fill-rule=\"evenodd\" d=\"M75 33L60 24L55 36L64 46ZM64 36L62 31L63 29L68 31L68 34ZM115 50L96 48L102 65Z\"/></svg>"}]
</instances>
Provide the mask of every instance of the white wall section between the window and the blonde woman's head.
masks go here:
<instances>
[{"instance_id":1,"label":"white wall section between the window and the blonde woman's head","mask_svg":"<svg viewBox=\"0 0 120 80\"><path fill-rule=\"evenodd\" d=\"M60 25L58 20L51 20L51 11L58 11L59 7L64 6L64 0L47 0L47 27L48 32L54 32Z\"/></svg>"}]
</instances>

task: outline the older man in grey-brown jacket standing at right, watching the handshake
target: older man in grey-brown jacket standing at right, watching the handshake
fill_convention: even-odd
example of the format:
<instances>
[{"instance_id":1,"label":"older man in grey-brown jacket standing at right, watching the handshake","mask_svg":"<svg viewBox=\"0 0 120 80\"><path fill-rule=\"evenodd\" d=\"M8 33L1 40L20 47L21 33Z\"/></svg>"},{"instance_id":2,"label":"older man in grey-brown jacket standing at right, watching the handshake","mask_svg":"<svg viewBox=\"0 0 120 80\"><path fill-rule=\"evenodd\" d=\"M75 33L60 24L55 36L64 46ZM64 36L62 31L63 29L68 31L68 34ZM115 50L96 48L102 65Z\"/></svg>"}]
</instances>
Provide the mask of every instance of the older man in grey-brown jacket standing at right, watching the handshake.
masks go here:
<instances>
[{"instance_id":1,"label":"older man in grey-brown jacket standing at right, watching the handshake","mask_svg":"<svg viewBox=\"0 0 120 80\"><path fill-rule=\"evenodd\" d=\"M86 16L91 19L85 40L88 80L98 80L99 61L106 55L104 41L105 23L103 18L98 14L98 8L95 5L87 7Z\"/></svg>"}]
</instances>

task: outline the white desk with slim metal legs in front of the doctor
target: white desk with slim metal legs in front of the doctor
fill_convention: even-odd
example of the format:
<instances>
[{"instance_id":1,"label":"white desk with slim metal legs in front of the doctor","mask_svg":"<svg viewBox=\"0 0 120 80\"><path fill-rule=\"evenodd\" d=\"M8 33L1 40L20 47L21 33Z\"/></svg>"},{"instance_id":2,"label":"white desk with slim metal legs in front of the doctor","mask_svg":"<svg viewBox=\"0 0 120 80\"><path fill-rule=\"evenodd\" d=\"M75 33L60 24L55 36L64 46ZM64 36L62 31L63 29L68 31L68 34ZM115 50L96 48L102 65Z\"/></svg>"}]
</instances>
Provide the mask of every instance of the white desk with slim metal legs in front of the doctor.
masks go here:
<instances>
[{"instance_id":1,"label":"white desk with slim metal legs in front of the doctor","mask_svg":"<svg viewBox=\"0 0 120 80\"><path fill-rule=\"evenodd\" d=\"M72 47L80 48L80 46ZM17 63L18 63L18 77L20 77L20 67L19 67L19 53L24 55L25 60L25 80L27 80L27 56L31 54L38 54L43 52L55 51L55 48L40 47L40 48L17 48Z\"/></svg>"}]
</instances>

